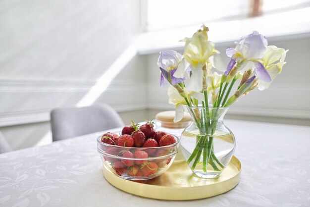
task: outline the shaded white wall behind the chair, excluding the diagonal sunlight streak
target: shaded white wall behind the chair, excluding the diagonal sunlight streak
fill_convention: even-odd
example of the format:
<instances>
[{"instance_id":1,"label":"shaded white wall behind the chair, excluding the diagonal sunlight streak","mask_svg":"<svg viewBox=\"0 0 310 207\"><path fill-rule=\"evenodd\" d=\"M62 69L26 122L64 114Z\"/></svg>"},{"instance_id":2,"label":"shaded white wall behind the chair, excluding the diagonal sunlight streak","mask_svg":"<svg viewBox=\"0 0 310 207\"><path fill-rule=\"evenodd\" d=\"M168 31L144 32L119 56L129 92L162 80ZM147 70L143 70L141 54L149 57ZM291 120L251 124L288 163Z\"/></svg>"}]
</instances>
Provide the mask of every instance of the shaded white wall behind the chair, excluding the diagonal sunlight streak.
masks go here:
<instances>
[{"instance_id":1,"label":"shaded white wall behind the chair, excluding the diagonal sunlight streak","mask_svg":"<svg viewBox=\"0 0 310 207\"><path fill-rule=\"evenodd\" d=\"M0 1L0 131L13 149L38 142L49 123L33 122L77 104L130 46L139 33L139 6L139 0ZM145 107L140 59L96 103L118 111Z\"/></svg>"}]
</instances>

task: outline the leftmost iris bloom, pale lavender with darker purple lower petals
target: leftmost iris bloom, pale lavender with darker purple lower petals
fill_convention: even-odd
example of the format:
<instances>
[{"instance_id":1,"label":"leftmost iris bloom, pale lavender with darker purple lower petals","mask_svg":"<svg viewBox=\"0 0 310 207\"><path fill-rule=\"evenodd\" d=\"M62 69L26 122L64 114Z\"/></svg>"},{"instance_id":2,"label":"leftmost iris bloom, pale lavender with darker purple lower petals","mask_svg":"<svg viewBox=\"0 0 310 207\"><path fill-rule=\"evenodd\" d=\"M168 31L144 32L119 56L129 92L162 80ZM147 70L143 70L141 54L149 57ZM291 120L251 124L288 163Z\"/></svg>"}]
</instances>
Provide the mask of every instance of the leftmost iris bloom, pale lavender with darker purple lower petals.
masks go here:
<instances>
[{"instance_id":1,"label":"leftmost iris bloom, pale lavender with darker purple lower petals","mask_svg":"<svg viewBox=\"0 0 310 207\"><path fill-rule=\"evenodd\" d=\"M163 51L159 53L157 60L157 65L161 71L160 75L160 87L165 84L170 83L171 85L176 85L182 83L186 78L176 78L174 73L181 62L182 55L176 51Z\"/></svg>"}]
</instances>

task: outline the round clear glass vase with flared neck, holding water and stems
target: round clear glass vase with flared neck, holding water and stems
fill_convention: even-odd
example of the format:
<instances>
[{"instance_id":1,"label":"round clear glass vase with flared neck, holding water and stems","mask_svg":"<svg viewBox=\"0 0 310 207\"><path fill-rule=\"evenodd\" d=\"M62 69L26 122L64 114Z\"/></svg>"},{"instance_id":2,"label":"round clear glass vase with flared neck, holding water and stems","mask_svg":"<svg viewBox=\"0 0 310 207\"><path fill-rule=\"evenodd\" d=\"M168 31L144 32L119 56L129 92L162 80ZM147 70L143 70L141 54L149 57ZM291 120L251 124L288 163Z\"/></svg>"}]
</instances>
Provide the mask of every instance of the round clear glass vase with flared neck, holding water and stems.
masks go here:
<instances>
[{"instance_id":1,"label":"round clear glass vase with flared neck, holding water and stems","mask_svg":"<svg viewBox=\"0 0 310 207\"><path fill-rule=\"evenodd\" d=\"M217 178L235 151L235 137L223 122L228 107L187 107L192 123L180 137L183 156L195 175Z\"/></svg>"}]
</instances>

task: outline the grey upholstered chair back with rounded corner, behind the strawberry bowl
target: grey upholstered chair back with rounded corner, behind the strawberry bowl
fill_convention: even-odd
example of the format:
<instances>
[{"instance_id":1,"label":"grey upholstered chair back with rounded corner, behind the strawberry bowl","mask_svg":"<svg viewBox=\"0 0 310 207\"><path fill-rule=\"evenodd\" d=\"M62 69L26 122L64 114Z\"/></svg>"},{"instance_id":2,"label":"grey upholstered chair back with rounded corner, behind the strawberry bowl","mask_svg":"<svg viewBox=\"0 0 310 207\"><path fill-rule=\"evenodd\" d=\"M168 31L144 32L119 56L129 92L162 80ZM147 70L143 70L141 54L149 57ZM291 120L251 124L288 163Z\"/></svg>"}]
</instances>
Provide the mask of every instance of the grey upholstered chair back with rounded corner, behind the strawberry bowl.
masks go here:
<instances>
[{"instance_id":1,"label":"grey upholstered chair back with rounded corner, behind the strawberry bowl","mask_svg":"<svg viewBox=\"0 0 310 207\"><path fill-rule=\"evenodd\" d=\"M51 112L52 140L63 140L121 127L124 122L109 105L56 108Z\"/></svg>"}]
</instances>

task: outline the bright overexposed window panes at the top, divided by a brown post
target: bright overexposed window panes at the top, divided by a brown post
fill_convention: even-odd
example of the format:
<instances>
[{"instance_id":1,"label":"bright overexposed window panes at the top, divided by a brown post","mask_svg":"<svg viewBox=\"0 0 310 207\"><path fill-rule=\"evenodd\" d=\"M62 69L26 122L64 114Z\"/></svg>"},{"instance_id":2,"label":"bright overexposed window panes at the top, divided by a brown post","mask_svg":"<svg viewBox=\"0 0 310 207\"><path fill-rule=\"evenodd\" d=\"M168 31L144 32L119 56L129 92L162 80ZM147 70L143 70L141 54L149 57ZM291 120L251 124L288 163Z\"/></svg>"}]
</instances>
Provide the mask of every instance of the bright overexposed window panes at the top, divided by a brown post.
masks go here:
<instances>
[{"instance_id":1,"label":"bright overexposed window panes at the top, divided by a brown post","mask_svg":"<svg viewBox=\"0 0 310 207\"><path fill-rule=\"evenodd\" d=\"M249 17L251 0L146 0L145 30L162 30ZM261 13L310 7L310 0L261 0Z\"/></svg>"}]
</instances>

